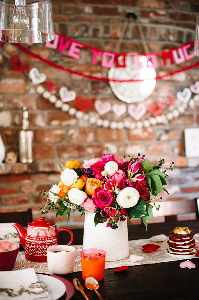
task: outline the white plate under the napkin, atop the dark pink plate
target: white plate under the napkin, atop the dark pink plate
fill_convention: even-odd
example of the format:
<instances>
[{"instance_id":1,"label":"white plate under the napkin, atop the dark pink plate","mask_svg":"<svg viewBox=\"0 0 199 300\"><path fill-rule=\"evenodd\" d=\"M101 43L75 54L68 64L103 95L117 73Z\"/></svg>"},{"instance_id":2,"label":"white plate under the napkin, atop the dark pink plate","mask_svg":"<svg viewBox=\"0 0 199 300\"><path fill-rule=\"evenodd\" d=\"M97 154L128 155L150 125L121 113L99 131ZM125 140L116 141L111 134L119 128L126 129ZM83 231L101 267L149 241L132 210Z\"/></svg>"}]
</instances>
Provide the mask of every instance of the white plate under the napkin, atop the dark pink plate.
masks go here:
<instances>
[{"instance_id":1,"label":"white plate under the napkin, atop the dark pink plate","mask_svg":"<svg viewBox=\"0 0 199 300\"><path fill-rule=\"evenodd\" d=\"M37 274L37 278L39 281L43 280L50 288L51 300L59 299L66 292L65 284L57 278L51 277L46 274Z\"/></svg>"}]
</instances>

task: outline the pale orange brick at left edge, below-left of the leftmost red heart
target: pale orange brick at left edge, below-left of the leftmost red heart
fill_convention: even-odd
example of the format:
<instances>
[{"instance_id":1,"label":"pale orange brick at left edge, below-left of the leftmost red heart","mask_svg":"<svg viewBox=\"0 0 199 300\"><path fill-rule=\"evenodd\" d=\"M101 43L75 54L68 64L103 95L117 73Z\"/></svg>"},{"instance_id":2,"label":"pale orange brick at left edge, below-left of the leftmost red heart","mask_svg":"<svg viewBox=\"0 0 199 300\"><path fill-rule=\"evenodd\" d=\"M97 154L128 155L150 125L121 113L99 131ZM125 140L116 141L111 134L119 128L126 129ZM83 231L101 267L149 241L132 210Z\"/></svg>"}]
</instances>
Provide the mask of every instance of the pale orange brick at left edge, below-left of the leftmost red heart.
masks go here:
<instances>
[{"instance_id":1,"label":"pale orange brick at left edge, below-left of the leftmost red heart","mask_svg":"<svg viewBox=\"0 0 199 300\"><path fill-rule=\"evenodd\" d=\"M26 84L24 79L1 79L0 91L4 94L23 94L26 92Z\"/></svg>"}]
</instances>

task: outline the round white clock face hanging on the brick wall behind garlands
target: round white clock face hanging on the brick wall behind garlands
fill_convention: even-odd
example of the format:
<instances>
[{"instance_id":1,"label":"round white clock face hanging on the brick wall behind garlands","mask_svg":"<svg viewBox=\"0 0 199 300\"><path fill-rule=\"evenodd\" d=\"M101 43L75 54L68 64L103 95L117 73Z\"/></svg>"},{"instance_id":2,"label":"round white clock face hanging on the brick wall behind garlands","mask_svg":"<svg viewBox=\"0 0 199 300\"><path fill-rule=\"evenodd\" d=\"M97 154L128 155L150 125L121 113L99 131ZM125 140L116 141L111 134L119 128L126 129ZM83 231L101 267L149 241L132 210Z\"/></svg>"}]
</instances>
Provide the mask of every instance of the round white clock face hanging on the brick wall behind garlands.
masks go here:
<instances>
[{"instance_id":1,"label":"round white clock face hanging on the brick wall behind garlands","mask_svg":"<svg viewBox=\"0 0 199 300\"><path fill-rule=\"evenodd\" d=\"M119 58L119 60L122 58ZM147 63L146 56L140 56L139 65L134 63L133 56L126 56L126 67L112 67L109 71L109 79L142 79L137 82L110 81L114 94L127 103L141 102L147 99L153 92L156 85L156 72ZM142 65L141 69L140 64ZM148 80L147 80L148 79Z\"/></svg>"}]
</instances>

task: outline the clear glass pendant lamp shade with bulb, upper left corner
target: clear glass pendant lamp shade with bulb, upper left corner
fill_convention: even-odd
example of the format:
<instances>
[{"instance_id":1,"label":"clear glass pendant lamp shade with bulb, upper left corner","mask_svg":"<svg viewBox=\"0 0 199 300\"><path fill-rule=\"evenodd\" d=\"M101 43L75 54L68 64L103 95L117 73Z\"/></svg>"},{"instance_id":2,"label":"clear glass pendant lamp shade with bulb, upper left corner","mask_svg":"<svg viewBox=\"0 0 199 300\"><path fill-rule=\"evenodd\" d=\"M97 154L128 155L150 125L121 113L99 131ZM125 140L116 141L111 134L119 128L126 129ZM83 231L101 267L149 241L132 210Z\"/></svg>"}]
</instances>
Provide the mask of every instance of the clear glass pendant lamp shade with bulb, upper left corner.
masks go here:
<instances>
[{"instance_id":1,"label":"clear glass pendant lamp shade with bulb, upper left corner","mask_svg":"<svg viewBox=\"0 0 199 300\"><path fill-rule=\"evenodd\" d=\"M1 42L45 43L54 38L51 0L0 0Z\"/></svg>"}]
</instances>

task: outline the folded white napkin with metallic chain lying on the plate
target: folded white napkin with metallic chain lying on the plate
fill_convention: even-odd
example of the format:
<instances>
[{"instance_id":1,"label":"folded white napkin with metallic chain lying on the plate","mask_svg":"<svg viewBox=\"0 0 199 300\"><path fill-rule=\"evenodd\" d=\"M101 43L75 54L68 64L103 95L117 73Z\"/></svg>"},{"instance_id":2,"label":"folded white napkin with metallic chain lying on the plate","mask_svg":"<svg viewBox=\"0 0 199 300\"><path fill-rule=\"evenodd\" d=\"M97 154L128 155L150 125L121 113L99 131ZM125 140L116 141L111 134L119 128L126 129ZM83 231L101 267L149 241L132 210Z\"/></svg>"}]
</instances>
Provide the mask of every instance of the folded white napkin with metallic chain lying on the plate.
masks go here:
<instances>
[{"instance_id":1,"label":"folded white napkin with metallic chain lying on the plate","mask_svg":"<svg viewBox=\"0 0 199 300\"><path fill-rule=\"evenodd\" d=\"M13 289L14 293L17 293L20 289L20 286L23 286L24 289L30 289L28 286L31 283L37 282L37 274L35 273L34 268L28 268L24 270L16 270L16 271L1 271L0 272L0 288L9 288ZM36 300L36 299L44 299L51 300L49 292L42 292L42 288L34 288L33 291L41 290L40 294L28 294L27 292L23 292L22 295L12 297L13 299L19 300ZM10 297L7 293L2 292L1 300L8 300Z\"/></svg>"}]
</instances>

